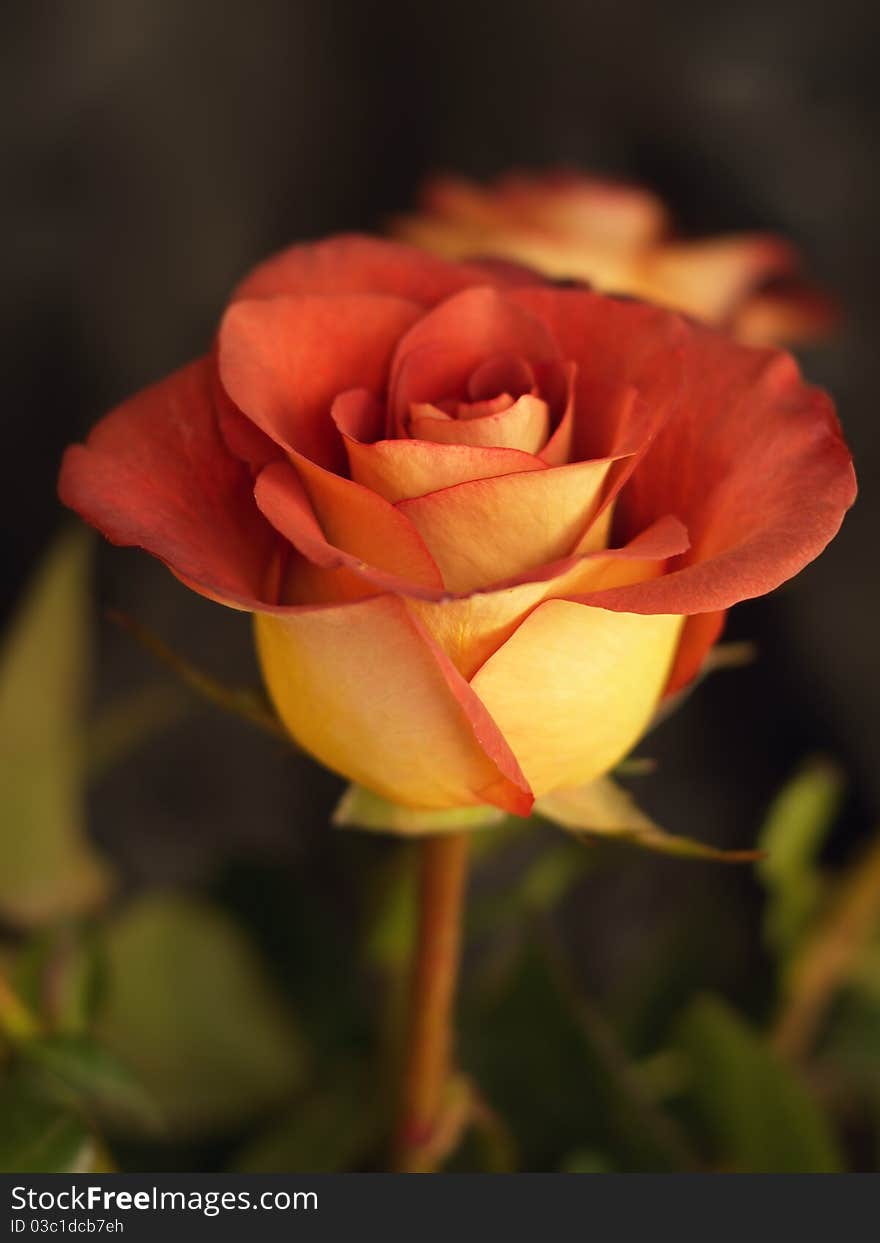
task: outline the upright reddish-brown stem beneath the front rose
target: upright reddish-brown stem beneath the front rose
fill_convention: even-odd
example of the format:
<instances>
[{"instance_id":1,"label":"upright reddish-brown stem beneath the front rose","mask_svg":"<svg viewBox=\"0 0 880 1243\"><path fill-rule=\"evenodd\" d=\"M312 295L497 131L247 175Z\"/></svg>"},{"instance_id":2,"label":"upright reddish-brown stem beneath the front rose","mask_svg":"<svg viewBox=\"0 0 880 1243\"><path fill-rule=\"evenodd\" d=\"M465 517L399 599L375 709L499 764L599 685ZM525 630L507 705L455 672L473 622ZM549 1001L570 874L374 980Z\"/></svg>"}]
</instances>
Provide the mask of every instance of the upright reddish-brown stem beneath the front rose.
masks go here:
<instances>
[{"instance_id":1,"label":"upright reddish-brown stem beneath the front rose","mask_svg":"<svg viewBox=\"0 0 880 1243\"><path fill-rule=\"evenodd\" d=\"M431 1137L441 1116L452 1052L452 1009L467 875L466 833L419 844L419 919L394 1168L430 1173Z\"/></svg>"}]
</instances>

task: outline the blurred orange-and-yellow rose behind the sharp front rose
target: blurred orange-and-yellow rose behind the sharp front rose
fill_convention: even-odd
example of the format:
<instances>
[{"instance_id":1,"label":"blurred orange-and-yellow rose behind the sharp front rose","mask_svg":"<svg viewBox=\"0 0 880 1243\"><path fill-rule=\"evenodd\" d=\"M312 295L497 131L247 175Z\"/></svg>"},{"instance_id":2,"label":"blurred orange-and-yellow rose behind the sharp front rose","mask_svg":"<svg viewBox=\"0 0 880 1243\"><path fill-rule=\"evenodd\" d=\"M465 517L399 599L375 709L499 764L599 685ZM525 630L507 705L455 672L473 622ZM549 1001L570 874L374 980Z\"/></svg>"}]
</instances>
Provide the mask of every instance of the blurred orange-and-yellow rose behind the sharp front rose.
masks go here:
<instances>
[{"instance_id":1,"label":"blurred orange-and-yellow rose behind the sharp front rose","mask_svg":"<svg viewBox=\"0 0 880 1243\"><path fill-rule=\"evenodd\" d=\"M836 318L834 303L799 278L797 251L781 237L677 239L656 195L619 181L543 173L482 186L439 177L394 231L444 259L497 255L659 302L749 344L812 341Z\"/></svg>"}]
</instances>

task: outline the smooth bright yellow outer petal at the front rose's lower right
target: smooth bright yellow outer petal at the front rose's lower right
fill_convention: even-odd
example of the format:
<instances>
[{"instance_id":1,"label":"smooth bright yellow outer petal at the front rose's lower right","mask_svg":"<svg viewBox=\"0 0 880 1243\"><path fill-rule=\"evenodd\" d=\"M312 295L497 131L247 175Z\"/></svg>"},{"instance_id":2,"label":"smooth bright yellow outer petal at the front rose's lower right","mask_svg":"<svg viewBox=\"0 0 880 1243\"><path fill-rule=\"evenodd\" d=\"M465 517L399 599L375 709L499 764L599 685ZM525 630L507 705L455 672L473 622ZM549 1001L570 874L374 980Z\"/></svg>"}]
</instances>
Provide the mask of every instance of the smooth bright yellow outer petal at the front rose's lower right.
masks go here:
<instances>
[{"instance_id":1,"label":"smooth bright yellow outer petal at the front rose's lower right","mask_svg":"<svg viewBox=\"0 0 880 1243\"><path fill-rule=\"evenodd\" d=\"M536 797L612 768L662 694L681 618L547 600L471 680Z\"/></svg>"}]
</instances>

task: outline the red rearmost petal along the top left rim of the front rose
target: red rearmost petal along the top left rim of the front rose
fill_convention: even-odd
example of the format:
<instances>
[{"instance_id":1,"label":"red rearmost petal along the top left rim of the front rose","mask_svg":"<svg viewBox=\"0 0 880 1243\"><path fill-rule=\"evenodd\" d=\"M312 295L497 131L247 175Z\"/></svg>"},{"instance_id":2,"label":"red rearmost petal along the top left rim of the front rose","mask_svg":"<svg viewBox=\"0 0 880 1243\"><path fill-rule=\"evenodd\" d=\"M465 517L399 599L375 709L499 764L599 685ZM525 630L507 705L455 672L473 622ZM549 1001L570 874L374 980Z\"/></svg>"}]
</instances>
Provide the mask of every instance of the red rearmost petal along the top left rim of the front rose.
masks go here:
<instances>
[{"instance_id":1,"label":"red rearmost petal along the top left rim of the front rose","mask_svg":"<svg viewBox=\"0 0 880 1243\"><path fill-rule=\"evenodd\" d=\"M290 246L260 264L234 300L288 293L390 293L434 306L470 285L510 283L479 266L446 264L415 246L346 234Z\"/></svg>"}]
</instances>

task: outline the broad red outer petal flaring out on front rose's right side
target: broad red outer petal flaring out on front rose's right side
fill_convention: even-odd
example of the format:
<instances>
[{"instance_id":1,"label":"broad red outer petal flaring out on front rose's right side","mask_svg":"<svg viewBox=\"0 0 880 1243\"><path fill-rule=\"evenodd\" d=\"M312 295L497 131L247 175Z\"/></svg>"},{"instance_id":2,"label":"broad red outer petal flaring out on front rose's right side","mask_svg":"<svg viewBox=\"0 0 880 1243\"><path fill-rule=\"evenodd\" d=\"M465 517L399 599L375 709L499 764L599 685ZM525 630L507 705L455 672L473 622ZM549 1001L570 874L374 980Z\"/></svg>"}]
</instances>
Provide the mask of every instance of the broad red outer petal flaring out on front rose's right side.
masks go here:
<instances>
[{"instance_id":1,"label":"broad red outer petal flaring out on front rose's right side","mask_svg":"<svg viewBox=\"0 0 880 1243\"><path fill-rule=\"evenodd\" d=\"M620 530L677 513L691 549L605 608L715 613L797 574L836 533L855 475L829 398L794 360L694 327L687 392L618 500Z\"/></svg>"}]
</instances>

